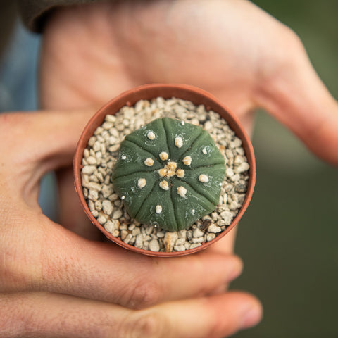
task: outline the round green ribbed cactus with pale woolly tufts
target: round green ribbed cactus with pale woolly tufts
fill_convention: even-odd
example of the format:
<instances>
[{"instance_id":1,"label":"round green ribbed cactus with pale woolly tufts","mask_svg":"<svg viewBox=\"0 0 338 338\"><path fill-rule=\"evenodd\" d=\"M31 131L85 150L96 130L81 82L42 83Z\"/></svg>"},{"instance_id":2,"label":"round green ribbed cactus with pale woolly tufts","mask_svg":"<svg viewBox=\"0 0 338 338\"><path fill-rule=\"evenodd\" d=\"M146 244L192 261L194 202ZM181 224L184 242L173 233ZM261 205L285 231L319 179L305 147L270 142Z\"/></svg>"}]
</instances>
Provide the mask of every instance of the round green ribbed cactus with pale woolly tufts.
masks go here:
<instances>
[{"instance_id":1,"label":"round green ribbed cactus with pale woolly tufts","mask_svg":"<svg viewBox=\"0 0 338 338\"><path fill-rule=\"evenodd\" d=\"M158 118L121 142L112 182L132 218L176 231L215 210L224 175L208 132Z\"/></svg>"}]
</instances>

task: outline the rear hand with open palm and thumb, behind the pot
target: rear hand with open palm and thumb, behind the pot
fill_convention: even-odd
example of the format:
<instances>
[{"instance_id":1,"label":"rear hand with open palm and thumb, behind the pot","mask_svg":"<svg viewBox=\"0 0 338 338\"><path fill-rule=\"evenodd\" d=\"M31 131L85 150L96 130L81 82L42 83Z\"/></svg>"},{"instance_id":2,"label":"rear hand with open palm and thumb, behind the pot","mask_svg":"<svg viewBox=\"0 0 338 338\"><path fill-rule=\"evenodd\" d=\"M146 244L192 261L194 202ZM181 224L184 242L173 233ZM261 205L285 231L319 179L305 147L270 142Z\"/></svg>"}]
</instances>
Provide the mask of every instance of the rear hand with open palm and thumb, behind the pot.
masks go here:
<instances>
[{"instance_id":1,"label":"rear hand with open palm and thumb, behind the pot","mask_svg":"<svg viewBox=\"0 0 338 338\"><path fill-rule=\"evenodd\" d=\"M294 32L249 1L132 0L63 8L46 25L41 70L47 108L100 106L149 82L193 84L229 106L248 132L254 109L263 107L315 154L338 163L337 102ZM62 208L62 223L84 229L66 177L60 193L73 218L67 224ZM231 232L213 250L231 251L233 237Z\"/></svg>"}]
</instances>

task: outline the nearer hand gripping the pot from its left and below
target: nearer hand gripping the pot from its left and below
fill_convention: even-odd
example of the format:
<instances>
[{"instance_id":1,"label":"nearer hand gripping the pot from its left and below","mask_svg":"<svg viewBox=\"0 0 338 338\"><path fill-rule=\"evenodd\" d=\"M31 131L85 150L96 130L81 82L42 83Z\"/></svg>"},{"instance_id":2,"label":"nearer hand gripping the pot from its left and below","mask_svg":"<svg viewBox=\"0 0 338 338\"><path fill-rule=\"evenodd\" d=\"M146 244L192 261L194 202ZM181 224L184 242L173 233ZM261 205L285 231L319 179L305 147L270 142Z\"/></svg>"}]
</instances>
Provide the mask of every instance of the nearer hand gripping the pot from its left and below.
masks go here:
<instances>
[{"instance_id":1,"label":"nearer hand gripping the pot from its left and below","mask_svg":"<svg viewBox=\"0 0 338 338\"><path fill-rule=\"evenodd\" d=\"M150 258L42 214L39 180L70 165L90 115L0 115L0 336L224 337L257 323L253 296L222 291L242 270L236 256Z\"/></svg>"}]
</instances>

